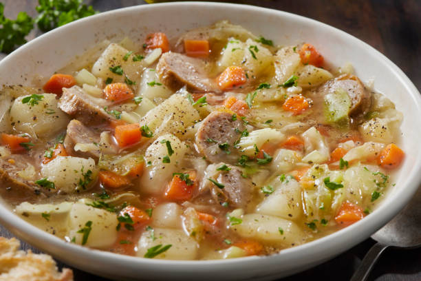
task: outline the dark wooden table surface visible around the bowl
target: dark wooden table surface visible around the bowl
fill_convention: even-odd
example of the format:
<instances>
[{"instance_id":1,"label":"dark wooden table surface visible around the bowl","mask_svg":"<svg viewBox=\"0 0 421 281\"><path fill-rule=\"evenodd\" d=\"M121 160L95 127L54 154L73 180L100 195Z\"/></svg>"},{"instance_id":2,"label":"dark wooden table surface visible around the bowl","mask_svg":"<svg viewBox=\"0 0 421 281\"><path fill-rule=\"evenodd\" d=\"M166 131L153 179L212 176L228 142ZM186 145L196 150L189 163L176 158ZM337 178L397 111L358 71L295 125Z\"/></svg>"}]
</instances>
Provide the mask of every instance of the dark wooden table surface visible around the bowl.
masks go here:
<instances>
[{"instance_id":1,"label":"dark wooden table surface visible around the bowl","mask_svg":"<svg viewBox=\"0 0 421 281\"><path fill-rule=\"evenodd\" d=\"M19 11L28 12L30 16L36 17L35 6L38 1L6 0L2 2L5 4L6 17L15 18ZM409 76L409 79L419 90L421 89L420 0L246 0L230 2L292 12L344 30L385 54ZM94 6L95 10L104 12L144 4L145 2L136 0L91 0L85 1L85 3ZM34 39L39 34L41 32L35 28L27 38L28 40ZM12 234L1 226L0 235L12 237ZM374 240L367 239L329 262L283 280L349 280L365 253L373 244ZM39 252L25 242L22 242L22 247ZM67 267L60 262L58 264L60 267ZM78 271L78 269L74 269L74 275L77 281L107 281L104 278ZM421 280L421 249L387 250L374 267L369 280Z\"/></svg>"}]
</instances>

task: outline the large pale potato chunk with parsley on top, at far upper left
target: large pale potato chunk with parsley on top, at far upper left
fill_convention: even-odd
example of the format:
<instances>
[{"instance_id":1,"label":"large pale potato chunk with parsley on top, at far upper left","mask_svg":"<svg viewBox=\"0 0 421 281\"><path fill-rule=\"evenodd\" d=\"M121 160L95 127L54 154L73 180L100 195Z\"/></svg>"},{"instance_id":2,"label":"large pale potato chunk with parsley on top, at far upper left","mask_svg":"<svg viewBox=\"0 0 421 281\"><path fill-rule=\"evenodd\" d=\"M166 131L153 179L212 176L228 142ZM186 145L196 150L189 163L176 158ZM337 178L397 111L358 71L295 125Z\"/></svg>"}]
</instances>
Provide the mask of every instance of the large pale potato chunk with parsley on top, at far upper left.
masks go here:
<instances>
[{"instance_id":1,"label":"large pale potato chunk with parsley on top, at far upper left","mask_svg":"<svg viewBox=\"0 0 421 281\"><path fill-rule=\"evenodd\" d=\"M42 94L41 101L23 103L19 96L10 108L10 121L19 131L32 136L52 136L65 129L69 117L57 106L56 94Z\"/></svg>"}]
</instances>

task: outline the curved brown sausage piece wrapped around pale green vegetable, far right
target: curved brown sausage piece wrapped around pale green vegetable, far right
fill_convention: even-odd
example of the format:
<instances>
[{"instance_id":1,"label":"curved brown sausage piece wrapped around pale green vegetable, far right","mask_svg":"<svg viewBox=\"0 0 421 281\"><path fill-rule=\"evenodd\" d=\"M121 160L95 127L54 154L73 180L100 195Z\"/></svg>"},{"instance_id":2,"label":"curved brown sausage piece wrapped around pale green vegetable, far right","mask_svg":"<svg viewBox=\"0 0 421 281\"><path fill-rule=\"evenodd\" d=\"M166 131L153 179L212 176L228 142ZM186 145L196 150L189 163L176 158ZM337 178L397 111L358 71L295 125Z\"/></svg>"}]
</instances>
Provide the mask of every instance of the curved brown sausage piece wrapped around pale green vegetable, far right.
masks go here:
<instances>
[{"instance_id":1,"label":"curved brown sausage piece wrapped around pale green vegetable, far right","mask_svg":"<svg viewBox=\"0 0 421 281\"><path fill-rule=\"evenodd\" d=\"M349 116L366 114L368 112L371 105L371 94L365 89L363 83L357 76L343 74L321 85L317 92L320 94L328 94L335 92L339 88L345 90L351 99Z\"/></svg>"}]
</instances>

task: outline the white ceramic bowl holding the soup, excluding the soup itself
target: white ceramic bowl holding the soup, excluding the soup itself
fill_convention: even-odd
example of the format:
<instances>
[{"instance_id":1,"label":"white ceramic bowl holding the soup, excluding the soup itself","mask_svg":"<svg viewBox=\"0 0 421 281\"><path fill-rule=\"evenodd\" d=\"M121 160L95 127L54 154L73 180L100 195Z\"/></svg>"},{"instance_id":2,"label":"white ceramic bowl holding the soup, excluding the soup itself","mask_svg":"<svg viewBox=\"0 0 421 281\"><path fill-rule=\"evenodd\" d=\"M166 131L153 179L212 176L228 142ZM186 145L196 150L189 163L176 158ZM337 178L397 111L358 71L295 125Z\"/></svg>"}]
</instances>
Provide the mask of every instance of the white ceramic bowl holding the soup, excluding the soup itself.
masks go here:
<instances>
[{"instance_id":1,"label":"white ceramic bowl holding the soup, excluding the soup itself","mask_svg":"<svg viewBox=\"0 0 421 281\"><path fill-rule=\"evenodd\" d=\"M402 141L407 152L396 186L372 214L330 236L285 249L277 255L213 261L166 261L116 255L67 243L14 216L0 205L0 221L19 238L74 267L120 280L272 279L303 271L368 238L391 220L421 180L421 98L413 83L389 59L366 43L318 21L286 12L224 3L166 3L104 12L57 28L30 41L0 62L1 84L30 85L34 74L50 76L102 39L143 40L162 31L176 37L185 30L221 19L243 25L279 44L310 42L329 63L352 62L356 74L386 94L404 114ZM3 187L2 187L3 188ZM341 279L341 278L340 278Z\"/></svg>"}]
</instances>

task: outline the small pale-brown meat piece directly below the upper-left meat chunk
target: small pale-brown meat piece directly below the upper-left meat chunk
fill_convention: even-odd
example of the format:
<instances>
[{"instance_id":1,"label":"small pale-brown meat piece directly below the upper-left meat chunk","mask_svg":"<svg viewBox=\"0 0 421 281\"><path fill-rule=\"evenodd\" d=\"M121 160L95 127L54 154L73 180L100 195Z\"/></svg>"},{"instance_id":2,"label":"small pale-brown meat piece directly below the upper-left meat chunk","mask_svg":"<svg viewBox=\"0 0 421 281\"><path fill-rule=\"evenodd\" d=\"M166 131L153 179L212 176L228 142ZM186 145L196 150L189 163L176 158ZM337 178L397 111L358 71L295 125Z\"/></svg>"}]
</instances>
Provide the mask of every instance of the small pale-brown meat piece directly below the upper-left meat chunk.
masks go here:
<instances>
[{"instance_id":1,"label":"small pale-brown meat piece directly below the upper-left meat chunk","mask_svg":"<svg viewBox=\"0 0 421 281\"><path fill-rule=\"evenodd\" d=\"M67 154L74 155L76 154L83 154L83 156L93 156L94 158L99 158L100 156L100 148L97 149L89 149L89 151L85 153L75 152L74 145L76 143L100 143L100 134L94 132L92 129L89 129L85 125L83 125L78 120L72 120L67 125L67 132L65 138L65 149Z\"/></svg>"}]
</instances>

